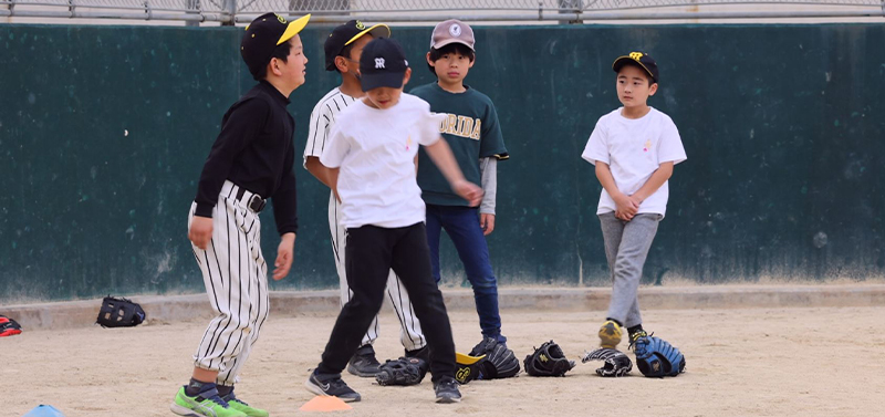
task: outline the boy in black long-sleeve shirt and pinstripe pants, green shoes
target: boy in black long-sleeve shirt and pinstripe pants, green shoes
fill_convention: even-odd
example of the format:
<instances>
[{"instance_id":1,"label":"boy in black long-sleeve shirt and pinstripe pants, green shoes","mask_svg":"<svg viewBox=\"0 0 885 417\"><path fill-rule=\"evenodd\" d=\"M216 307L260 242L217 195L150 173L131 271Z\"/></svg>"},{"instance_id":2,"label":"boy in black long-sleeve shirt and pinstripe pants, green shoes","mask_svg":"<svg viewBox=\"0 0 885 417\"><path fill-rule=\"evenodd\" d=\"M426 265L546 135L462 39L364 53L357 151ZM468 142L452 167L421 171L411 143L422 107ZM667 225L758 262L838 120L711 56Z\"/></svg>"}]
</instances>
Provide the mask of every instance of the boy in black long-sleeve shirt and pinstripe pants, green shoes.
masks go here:
<instances>
[{"instance_id":1,"label":"boy in black long-sleeve shirt and pinstripe pants, green shoes","mask_svg":"<svg viewBox=\"0 0 885 417\"><path fill-rule=\"evenodd\" d=\"M281 237L273 279L284 278L292 265L295 122L285 106L304 83L308 59L298 33L308 20L287 22L267 13L242 38L240 53L259 83L225 114L188 217L188 238L217 315L194 355L190 383L171 405L181 416L269 415L238 399L233 383L268 317L268 267L258 217L268 198Z\"/></svg>"}]
</instances>

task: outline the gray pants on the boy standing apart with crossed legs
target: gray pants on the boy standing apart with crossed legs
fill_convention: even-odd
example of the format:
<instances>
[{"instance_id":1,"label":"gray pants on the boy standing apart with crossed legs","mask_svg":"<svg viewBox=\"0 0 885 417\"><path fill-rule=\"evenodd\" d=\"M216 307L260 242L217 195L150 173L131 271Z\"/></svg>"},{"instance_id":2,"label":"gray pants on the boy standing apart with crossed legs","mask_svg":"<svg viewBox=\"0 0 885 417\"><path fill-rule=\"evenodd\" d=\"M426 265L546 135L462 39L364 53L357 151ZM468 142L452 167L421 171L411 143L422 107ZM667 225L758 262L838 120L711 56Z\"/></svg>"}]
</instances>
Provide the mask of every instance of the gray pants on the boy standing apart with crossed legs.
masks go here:
<instances>
[{"instance_id":1,"label":"gray pants on the boy standing apart with crossed legs","mask_svg":"<svg viewBox=\"0 0 885 417\"><path fill-rule=\"evenodd\" d=\"M606 317L617 320L625 327L643 323L639 314L639 280L648 249L657 233L657 225L664 217L657 213L639 213L633 220L615 218L614 212L598 215L602 237L605 240L605 258L612 271L612 302Z\"/></svg>"}]
</instances>

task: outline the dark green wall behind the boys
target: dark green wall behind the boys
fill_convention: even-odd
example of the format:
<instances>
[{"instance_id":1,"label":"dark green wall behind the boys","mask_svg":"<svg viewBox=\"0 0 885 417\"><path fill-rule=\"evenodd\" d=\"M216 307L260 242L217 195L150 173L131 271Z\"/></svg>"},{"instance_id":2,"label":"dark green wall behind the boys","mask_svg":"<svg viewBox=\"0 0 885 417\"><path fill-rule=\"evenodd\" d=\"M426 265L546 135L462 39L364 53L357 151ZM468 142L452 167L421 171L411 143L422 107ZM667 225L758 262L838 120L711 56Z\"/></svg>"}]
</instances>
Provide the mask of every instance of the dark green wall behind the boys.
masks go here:
<instances>
[{"instance_id":1,"label":"dark green wall behind the boys","mask_svg":"<svg viewBox=\"0 0 885 417\"><path fill-rule=\"evenodd\" d=\"M196 179L252 81L241 29L0 25L0 302L202 290L186 237ZM308 84L290 111L303 150L329 28L302 33ZM430 28L395 28L423 65ZM668 216L647 282L881 277L885 27L478 28L468 83L497 104L512 158L489 238L503 284L604 285L600 186L580 154L618 106L612 60L643 49L650 104L679 127ZM295 267L274 289L337 285L327 190L296 168ZM263 215L264 253L278 240ZM449 284L464 275L444 247ZM582 277L583 274L583 277Z\"/></svg>"}]
</instances>

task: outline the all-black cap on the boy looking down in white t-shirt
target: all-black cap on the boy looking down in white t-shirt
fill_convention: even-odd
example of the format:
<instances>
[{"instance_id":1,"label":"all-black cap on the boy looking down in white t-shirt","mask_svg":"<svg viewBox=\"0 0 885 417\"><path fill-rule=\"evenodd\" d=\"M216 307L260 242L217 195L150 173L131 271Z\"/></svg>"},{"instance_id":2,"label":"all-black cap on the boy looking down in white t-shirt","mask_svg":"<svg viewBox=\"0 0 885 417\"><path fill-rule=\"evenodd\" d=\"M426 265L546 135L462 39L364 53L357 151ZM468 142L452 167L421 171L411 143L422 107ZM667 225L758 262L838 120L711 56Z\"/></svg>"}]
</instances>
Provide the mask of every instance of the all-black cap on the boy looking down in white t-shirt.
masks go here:
<instances>
[{"instance_id":1,"label":"all-black cap on the boy looking down in white t-shirt","mask_svg":"<svg viewBox=\"0 0 885 417\"><path fill-rule=\"evenodd\" d=\"M399 42L389 38L378 38L363 48L360 56L360 79L363 91L377 87L403 87L403 76L408 69L406 53Z\"/></svg>"}]
</instances>

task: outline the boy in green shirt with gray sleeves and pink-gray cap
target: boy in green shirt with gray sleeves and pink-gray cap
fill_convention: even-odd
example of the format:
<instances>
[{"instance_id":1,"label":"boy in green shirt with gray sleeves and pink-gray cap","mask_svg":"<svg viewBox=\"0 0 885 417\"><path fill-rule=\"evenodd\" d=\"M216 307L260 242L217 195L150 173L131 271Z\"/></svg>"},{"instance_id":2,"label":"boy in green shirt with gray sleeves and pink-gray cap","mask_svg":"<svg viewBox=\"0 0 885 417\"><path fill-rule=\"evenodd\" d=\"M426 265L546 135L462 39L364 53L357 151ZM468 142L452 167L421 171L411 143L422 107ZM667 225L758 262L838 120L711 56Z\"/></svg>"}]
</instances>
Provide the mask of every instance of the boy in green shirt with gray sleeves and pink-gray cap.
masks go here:
<instances>
[{"instance_id":1,"label":"boy in green shirt with gray sleeves and pink-gray cap","mask_svg":"<svg viewBox=\"0 0 885 417\"><path fill-rule=\"evenodd\" d=\"M427 64L437 82L416 87L412 94L430 103L434 113L447 114L439 132L451 147L465 177L481 184L485 197L476 207L456 195L424 149L418 153L418 186L427 206L427 241L434 278L439 282L439 234L451 238L464 262L482 330L482 341L473 347L477 356L504 344L498 312L498 281L491 269L486 236L494 230L497 163L507 159L494 104L485 94L464 84L473 66L473 30L458 20L436 25L427 53Z\"/></svg>"}]
</instances>

